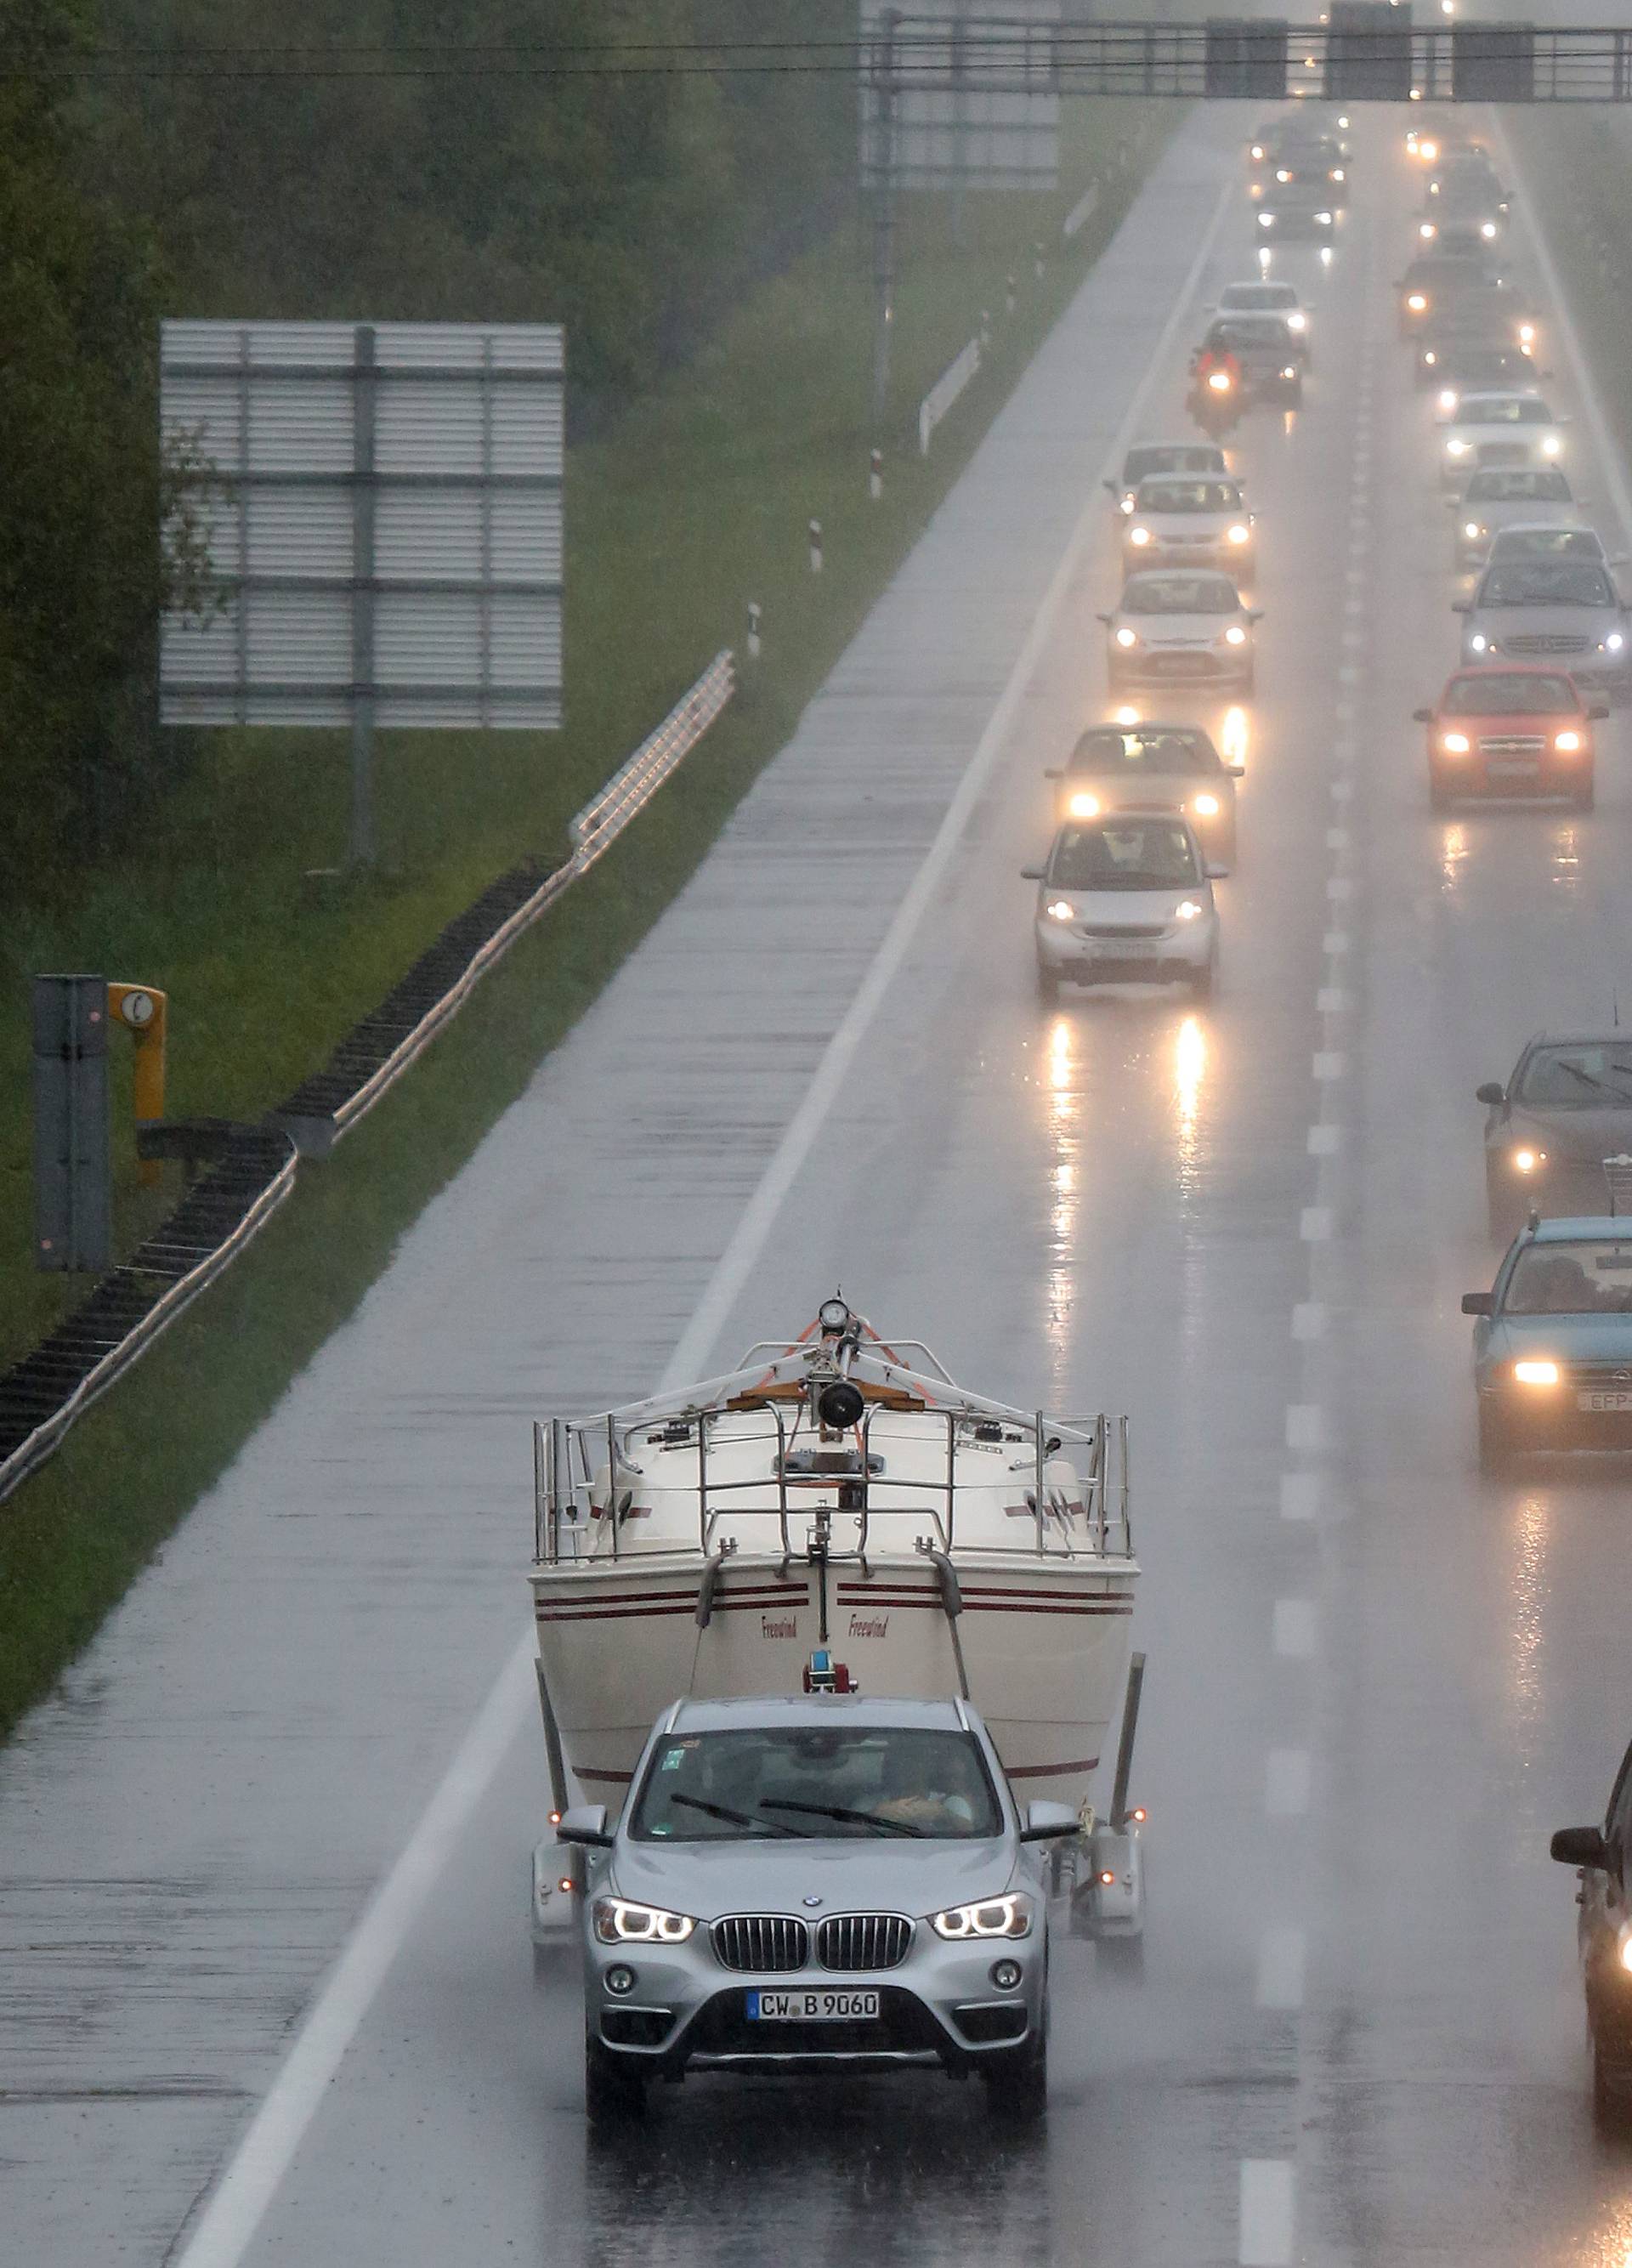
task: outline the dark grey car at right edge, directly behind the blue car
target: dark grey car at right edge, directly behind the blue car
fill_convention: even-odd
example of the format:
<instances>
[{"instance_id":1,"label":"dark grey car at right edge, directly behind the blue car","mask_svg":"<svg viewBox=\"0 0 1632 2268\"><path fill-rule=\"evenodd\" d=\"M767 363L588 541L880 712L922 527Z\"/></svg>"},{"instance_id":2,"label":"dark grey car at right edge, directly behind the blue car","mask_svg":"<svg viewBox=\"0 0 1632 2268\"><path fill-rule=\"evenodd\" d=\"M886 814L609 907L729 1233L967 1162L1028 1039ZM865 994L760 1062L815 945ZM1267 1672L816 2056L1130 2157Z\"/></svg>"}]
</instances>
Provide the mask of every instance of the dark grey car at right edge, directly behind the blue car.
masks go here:
<instances>
[{"instance_id":1,"label":"dark grey car at right edge, directly behind the blue car","mask_svg":"<svg viewBox=\"0 0 1632 2268\"><path fill-rule=\"evenodd\" d=\"M1528 1211L1603 1213L1603 1161L1632 1152L1632 1032L1537 1032L1507 1084L1478 1091L1494 1236Z\"/></svg>"}]
</instances>

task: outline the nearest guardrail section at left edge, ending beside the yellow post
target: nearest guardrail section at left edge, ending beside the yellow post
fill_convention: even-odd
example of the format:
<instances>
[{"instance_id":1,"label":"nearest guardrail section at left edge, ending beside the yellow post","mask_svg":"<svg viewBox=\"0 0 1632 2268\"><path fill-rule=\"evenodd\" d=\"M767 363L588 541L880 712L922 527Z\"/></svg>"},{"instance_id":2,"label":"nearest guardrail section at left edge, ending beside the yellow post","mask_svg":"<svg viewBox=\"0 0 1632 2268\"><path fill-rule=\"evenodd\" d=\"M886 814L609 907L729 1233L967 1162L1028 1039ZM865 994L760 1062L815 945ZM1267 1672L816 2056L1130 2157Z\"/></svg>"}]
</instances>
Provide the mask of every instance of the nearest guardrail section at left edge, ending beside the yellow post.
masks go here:
<instances>
[{"instance_id":1,"label":"nearest guardrail section at left edge, ending beside the yellow post","mask_svg":"<svg viewBox=\"0 0 1632 2268\"><path fill-rule=\"evenodd\" d=\"M236 1127L220 1163L193 1184L163 1227L0 1379L0 1501L231 1268L295 1188L295 1143L286 1134Z\"/></svg>"}]
</instances>

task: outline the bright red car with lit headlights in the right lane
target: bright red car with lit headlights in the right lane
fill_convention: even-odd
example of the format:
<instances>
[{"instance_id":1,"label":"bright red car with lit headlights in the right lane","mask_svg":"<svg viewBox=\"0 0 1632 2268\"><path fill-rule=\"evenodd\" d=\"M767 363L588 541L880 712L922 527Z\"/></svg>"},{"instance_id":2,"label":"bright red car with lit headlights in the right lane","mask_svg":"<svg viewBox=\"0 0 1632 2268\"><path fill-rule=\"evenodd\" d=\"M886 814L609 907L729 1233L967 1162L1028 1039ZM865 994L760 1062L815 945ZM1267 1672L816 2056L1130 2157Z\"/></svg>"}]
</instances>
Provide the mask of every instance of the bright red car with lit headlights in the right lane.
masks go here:
<instances>
[{"instance_id":1,"label":"bright red car with lit headlights in the right lane","mask_svg":"<svg viewBox=\"0 0 1632 2268\"><path fill-rule=\"evenodd\" d=\"M1609 714L1587 701L1564 669L1485 662L1457 669L1430 710L1428 801L1437 812L1462 796L1562 796L1591 810L1593 735Z\"/></svg>"}]
</instances>

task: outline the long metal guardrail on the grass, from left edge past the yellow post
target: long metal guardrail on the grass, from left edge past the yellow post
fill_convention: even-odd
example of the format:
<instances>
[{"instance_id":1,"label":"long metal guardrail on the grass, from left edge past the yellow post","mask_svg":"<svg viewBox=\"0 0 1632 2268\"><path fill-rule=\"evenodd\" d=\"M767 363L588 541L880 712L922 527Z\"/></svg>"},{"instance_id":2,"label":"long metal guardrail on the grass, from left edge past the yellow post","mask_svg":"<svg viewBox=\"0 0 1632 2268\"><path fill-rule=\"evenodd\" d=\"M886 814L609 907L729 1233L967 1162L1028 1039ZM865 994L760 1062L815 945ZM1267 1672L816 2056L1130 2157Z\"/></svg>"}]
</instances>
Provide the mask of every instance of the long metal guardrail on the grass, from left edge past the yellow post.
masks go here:
<instances>
[{"instance_id":1,"label":"long metal guardrail on the grass, from left edge past the yellow post","mask_svg":"<svg viewBox=\"0 0 1632 2268\"><path fill-rule=\"evenodd\" d=\"M451 921L401 984L365 1016L326 1070L261 1127L233 1127L218 1163L170 1220L0 1377L0 1501L61 1445L97 1395L238 1259L295 1188L301 1157L326 1157L431 1046L517 937L578 880L696 748L737 689L716 653L628 764L571 821L553 873L521 864ZM331 1100L329 1100L331 1098Z\"/></svg>"}]
</instances>

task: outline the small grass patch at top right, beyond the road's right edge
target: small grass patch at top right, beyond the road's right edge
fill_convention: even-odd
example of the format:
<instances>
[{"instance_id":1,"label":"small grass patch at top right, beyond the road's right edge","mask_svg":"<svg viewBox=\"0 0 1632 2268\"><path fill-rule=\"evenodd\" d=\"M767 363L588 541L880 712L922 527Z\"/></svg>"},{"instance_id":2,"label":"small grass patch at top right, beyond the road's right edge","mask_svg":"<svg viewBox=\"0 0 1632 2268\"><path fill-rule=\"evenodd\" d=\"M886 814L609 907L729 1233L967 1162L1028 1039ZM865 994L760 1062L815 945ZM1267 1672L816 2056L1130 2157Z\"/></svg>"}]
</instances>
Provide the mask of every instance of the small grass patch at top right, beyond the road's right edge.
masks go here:
<instances>
[{"instance_id":1,"label":"small grass patch at top right, beyond the road's right edge","mask_svg":"<svg viewBox=\"0 0 1632 2268\"><path fill-rule=\"evenodd\" d=\"M1507 109L1535 220L1616 442L1632 454L1632 141L1621 118Z\"/></svg>"}]
</instances>

